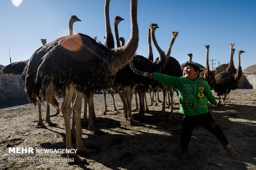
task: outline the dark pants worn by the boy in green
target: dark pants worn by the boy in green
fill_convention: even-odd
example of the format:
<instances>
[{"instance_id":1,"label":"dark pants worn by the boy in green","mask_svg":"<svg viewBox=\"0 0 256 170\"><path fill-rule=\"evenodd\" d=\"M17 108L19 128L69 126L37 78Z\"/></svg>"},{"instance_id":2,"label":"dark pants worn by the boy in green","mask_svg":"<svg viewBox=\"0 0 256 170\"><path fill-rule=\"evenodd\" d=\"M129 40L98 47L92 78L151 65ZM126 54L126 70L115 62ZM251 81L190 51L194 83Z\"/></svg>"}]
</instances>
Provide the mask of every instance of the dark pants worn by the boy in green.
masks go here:
<instances>
[{"instance_id":1,"label":"dark pants worn by the boy in green","mask_svg":"<svg viewBox=\"0 0 256 170\"><path fill-rule=\"evenodd\" d=\"M215 135L218 140L223 144L223 146L229 144L227 137L223 134L223 131L215 123L211 114L209 112L205 114L200 114L197 116L184 116L183 125L180 133L180 149L182 151L187 151L188 142L191 139L192 130L196 126L201 126Z\"/></svg>"}]
</instances>

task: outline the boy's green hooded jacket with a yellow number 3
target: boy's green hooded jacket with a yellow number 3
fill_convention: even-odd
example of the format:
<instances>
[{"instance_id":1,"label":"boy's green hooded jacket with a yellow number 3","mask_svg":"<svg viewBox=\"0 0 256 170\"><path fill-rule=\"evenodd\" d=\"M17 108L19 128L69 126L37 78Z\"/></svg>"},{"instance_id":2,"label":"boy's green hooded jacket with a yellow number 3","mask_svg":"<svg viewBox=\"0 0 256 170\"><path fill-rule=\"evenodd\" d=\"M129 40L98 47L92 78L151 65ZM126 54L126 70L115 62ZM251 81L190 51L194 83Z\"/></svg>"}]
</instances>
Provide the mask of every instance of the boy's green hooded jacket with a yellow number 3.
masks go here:
<instances>
[{"instance_id":1,"label":"boy's green hooded jacket with a yellow number 3","mask_svg":"<svg viewBox=\"0 0 256 170\"><path fill-rule=\"evenodd\" d=\"M154 72L153 79L178 90L180 113L186 116L207 113L208 101L212 105L217 104L208 82L200 77L191 80L185 77L173 77Z\"/></svg>"}]
</instances>

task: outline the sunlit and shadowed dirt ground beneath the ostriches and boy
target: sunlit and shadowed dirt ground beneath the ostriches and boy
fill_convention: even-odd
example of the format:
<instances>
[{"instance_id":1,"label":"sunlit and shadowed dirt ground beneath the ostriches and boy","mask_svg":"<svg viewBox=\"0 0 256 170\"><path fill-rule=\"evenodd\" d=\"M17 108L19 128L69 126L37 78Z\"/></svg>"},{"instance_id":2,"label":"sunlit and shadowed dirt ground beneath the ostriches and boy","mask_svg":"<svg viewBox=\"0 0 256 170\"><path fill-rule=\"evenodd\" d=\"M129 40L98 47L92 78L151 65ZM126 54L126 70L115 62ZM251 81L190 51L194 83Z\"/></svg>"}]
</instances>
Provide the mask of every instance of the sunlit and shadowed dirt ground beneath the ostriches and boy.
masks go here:
<instances>
[{"instance_id":1,"label":"sunlit and shadowed dirt ground beneath the ostriches and boy","mask_svg":"<svg viewBox=\"0 0 256 170\"><path fill-rule=\"evenodd\" d=\"M160 98L161 98L160 93ZM215 96L216 94L213 93ZM102 94L95 95L95 114L103 121L94 121L94 126L104 134L95 135L82 124L85 147L97 149L95 154L83 154L87 163L42 161L29 162L28 158L65 158L65 154L9 154L9 147L33 147L34 149L65 149L64 119L60 113L52 117L57 123L50 127L45 122L46 106L42 113L47 128L36 128L38 109L25 98L0 100L0 169L3 170L255 170L256 169L256 89L237 89L230 93L224 107L217 109L209 105L213 119L222 128L239 157L230 158L220 142L207 130L197 127L192 133L189 144L190 155L186 160L179 160L180 129L183 116L178 113L178 97L174 98L175 119L167 120L170 109L163 117L161 103L149 106L145 116L134 119L145 123L143 126L130 126L123 116L114 112L111 95L107 95L110 110L104 112ZM148 104L149 94L147 94ZM217 98L218 100L218 98ZM60 99L62 101L62 98ZM122 108L118 94L115 94L116 107ZM135 97L133 97L133 109ZM51 114L55 109L50 108ZM133 112L136 114L138 112ZM83 109L82 109L83 114ZM73 143L75 147L75 143ZM24 162L21 162L24 159ZM19 161L21 160L21 161Z\"/></svg>"}]
</instances>

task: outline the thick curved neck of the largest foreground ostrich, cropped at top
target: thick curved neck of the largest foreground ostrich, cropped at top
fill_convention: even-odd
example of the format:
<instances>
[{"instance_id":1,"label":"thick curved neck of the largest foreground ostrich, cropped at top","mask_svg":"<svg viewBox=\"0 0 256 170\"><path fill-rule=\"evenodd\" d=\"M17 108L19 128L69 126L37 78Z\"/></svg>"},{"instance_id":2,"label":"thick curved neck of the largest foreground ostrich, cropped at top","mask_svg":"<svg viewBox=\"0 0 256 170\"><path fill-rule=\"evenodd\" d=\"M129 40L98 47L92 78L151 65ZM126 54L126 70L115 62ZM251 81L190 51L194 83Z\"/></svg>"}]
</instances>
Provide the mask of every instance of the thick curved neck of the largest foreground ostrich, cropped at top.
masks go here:
<instances>
[{"instance_id":1,"label":"thick curved neck of the largest foreground ostrich, cropped at top","mask_svg":"<svg viewBox=\"0 0 256 170\"><path fill-rule=\"evenodd\" d=\"M111 58L111 64L115 71L124 67L135 54L139 42L139 29L137 24L137 2L138 0L130 0L130 21L131 34L128 42L118 49L115 49L115 54Z\"/></svg>"}]
</instances>

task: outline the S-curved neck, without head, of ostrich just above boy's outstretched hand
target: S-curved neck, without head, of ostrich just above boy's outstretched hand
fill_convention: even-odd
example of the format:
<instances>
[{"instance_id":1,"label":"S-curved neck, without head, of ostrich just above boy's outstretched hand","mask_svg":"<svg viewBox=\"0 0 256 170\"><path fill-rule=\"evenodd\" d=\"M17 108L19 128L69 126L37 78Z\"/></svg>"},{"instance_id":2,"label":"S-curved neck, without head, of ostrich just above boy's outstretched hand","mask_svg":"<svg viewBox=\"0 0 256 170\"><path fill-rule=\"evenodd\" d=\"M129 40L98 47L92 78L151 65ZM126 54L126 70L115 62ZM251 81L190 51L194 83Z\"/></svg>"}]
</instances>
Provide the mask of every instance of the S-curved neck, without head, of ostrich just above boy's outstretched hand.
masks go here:
<instances>
[{"instance_id":1,"label":"S-curved neck, without head, of ostrich just above boy's outstretched hand","mask_svg":"<svg viewBox=\"0 0 256 170\"><path fill-rule=\"evenodd\" d=\"M157 65L159 65L158 70L156 72L161 72L161 70L164 70L164 67L166 65L166 55L164 54L164 51L159 47L159 45L156 42L156 37L155 37L155 30L151 30L151 37L152 37L152 42L156 48L156 51L159 54L159 61L157 61Z\"/></svg>"}]
</instances>

